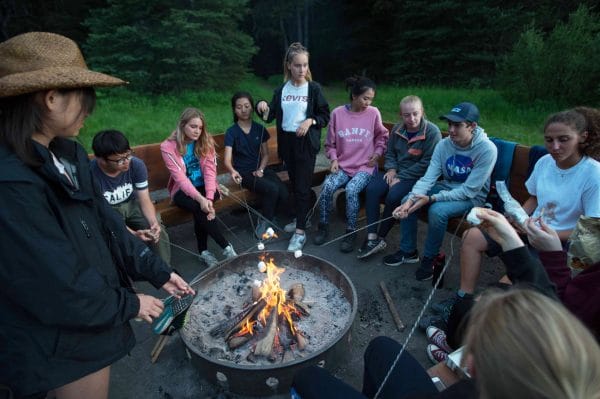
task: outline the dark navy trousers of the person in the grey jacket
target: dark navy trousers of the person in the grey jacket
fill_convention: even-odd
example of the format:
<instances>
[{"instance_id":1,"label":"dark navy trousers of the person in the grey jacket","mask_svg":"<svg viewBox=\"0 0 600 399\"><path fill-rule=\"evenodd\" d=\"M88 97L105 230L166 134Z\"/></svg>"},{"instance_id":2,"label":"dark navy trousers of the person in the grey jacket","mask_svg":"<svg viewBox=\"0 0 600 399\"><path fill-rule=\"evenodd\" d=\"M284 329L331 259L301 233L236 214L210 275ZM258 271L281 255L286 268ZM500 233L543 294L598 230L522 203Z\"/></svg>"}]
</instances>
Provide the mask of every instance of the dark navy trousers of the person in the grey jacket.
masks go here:
<instances>
[{"instance_id":1,"label":"dark navy trousers of the person in the grey jacket","mask_svg":"<svg viewBox=\"0 0 600 399\"><path fill-rule=\"evenodd\" d=\"M386 219L392 216L392 212L402 203L402 198L410 192L412 187L417 182L414 179L400 180L399 183L390 187L383 179L383 173L376 171L373 178L366 188L365 210L367 212L367 233L376 233L377 225L374 224L379 220L379 204L381 199L385 197L385 207L381 219ZM384 220L379 224L379 236L385 237L394 226L395 220Z\"/></svg>"}]
</instances>

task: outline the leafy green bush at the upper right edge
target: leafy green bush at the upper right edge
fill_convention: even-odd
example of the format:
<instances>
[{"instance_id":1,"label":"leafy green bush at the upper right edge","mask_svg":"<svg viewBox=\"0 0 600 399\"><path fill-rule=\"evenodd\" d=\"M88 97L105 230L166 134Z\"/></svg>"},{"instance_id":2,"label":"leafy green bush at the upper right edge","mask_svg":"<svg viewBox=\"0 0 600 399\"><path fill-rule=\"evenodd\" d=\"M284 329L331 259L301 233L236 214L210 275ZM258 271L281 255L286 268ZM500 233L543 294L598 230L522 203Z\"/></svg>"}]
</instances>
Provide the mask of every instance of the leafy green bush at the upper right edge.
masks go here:
<instances>
[{"instance_id":1,"label":"leafy green bush at the upper right edge","mask_svg":"<svg viewBox=\"0 0 600 399\"><path fill-rule=\"evenodd\" d=\"M523 102L600 102L600 22L580 6L548 35L528 27L499 65L500 88Z\"/></svg>"}]
</instances>

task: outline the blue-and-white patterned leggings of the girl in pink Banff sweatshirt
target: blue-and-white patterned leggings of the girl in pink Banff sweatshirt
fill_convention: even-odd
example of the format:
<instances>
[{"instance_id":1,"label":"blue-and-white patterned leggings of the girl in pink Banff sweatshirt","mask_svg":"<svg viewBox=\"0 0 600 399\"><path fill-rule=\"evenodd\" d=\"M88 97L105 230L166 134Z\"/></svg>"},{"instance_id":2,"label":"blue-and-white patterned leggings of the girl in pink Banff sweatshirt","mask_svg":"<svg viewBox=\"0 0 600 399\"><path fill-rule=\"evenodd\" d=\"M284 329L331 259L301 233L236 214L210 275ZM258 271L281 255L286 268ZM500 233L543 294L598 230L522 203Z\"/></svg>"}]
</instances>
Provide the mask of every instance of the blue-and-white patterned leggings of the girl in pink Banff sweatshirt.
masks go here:
<instances>
[{"instance_id":1,"label":"blue-and-white patterned leggings of the girl in pink Banff sweatshirt","mask_svg":"<svg viewBox=\"0 0 600 399\"><path fill-rule=\"evenodd\" d=\"M343 170L338 170L327 176L321 189L321 197L319 199L319 210L321 217L319 221L327 224L329 222L329 214L331 213L331 203L333 202L333 194L337 189L346 187L346 219L349 230L356 229L356 219L358 218L358 210L360 202L358 194L369 184L372 175L367 172L358 172L354 177L348 176Z\"/></svg>"}]
</instances>

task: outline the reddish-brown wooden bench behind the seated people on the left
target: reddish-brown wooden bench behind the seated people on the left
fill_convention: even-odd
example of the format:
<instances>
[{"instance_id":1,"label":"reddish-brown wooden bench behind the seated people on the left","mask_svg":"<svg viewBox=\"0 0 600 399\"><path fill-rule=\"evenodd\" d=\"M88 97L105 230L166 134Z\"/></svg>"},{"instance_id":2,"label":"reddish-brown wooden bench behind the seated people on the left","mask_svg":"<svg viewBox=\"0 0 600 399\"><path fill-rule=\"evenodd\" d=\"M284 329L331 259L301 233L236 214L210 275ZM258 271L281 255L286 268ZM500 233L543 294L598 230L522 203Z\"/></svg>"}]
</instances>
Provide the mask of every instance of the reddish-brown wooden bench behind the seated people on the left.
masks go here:
<instances>
[{"instance_id":1,"label":"reddish-brown wooden bench behind the seated people on the left","mask_svg":"<svg viewBox=\"0 0 600 399\"><path fill-rule=\"evenodd\" d=\"M277 132L275 127L271 126L267 128L267 130L271 136L267 142L269 147L268 167L274 168L277 171L279 178L284 183L289 183L287 172L282 170L283 162L277 155ZM214 205L217 213L233 206L240 207L239 200L249 203L258 200L258 196L255 193L235 184L231 180L229 172L225 169L225 164L223 162L225 134L213 135L213 138L217 145L217 180L219 184L223 184L227 187L230 192L229 196L223 195L221 200L215 202ZM139 145L134 147L133 151L135 156L143 160L148 168L148 188L156 211L160 214L163 224L165 226L175 226L190 221L192 215L186 210L172 204L171 198L166 190L167 182L169 181L169 171L166 168L160 153L160 143ZM315 167L312 181L313 187L323 183L327 171L327 168Z\"/></svg>"}]
</instances>

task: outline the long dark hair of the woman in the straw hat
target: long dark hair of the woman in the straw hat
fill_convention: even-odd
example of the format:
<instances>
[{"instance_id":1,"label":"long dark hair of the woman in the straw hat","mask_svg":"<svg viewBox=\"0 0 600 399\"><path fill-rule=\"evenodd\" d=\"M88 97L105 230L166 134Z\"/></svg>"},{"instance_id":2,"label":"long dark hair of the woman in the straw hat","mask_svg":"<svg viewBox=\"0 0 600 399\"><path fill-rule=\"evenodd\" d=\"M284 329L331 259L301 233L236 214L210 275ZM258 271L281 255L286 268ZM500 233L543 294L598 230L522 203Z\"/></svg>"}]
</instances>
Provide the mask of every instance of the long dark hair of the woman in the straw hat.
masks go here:
<instances>
[{"instance_id":1,"label":"long dark hair of the woman in the straw hat","mask_svg":"<svg viewBox=\"0 0 600 399\"><path fill-rule=\"evenodd\" d=\"M81 112L89 115L96 105L96 92L91 87L59 90L63 94L76 92L81 100ZM44 129L45 112L42 99L46 91L0 99L0 143L6 145L27 165L40 161L33 151L31 136Z\"/></svg>"}]
</instances>

